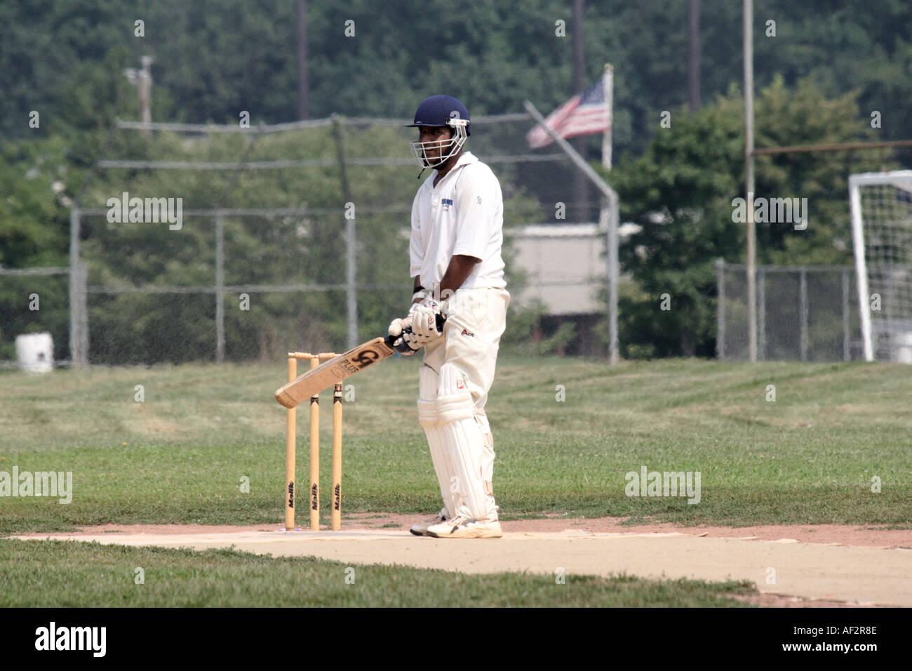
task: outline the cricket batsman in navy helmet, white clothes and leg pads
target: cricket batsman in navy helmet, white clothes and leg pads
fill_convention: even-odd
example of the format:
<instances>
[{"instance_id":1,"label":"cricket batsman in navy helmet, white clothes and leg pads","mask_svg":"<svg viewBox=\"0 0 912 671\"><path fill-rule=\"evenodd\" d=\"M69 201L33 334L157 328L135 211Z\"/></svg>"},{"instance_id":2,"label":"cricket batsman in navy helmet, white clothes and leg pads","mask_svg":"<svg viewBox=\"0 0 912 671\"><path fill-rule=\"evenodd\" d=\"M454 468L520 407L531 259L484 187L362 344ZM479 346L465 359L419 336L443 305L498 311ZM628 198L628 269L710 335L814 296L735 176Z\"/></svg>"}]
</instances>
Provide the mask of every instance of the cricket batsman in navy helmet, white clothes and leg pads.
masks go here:
<instances>
[{"instance_id":1,"label":"cricket batsman in navy helmet, white clothes and leg pads","mask_svg":"<svg viewBox=\"0 0 912 671\"><path fill-rule=\"evenodd\" d=\"M408 354L424 348L418 418L443 498L437 517L410 530L440 539L500 538L484 405L510 304L501 185L491 168L462 151L472 133L469 110L459 100L423 100L408 127L419 132L411 150L421 173L433 172L411 207L415 293L409 316L393 320L389 335L407 345Z\"/></svg>"}]
</instances>

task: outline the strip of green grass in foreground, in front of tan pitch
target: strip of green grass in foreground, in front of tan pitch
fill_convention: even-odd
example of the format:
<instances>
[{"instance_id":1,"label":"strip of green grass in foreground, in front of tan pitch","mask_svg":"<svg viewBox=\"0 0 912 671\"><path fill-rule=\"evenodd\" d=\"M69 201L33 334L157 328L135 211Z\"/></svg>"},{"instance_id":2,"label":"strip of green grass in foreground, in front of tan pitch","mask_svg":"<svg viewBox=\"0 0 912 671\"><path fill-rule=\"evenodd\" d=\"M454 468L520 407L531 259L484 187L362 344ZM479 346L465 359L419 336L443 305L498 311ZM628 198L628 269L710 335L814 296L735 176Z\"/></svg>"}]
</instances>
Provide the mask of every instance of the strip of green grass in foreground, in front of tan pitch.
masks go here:
<instances>
[{"instance_id":1,"label":"strip of green grass in foreground, in front of tan pitch","mask_svg":"<svg viewBox=\"0 0 912 671\"><path fill-rule=\"evenodd\" d=\"M137 584L136 568L144 571ZM350 577L349 577L350 576ZM349 577L350 582L346 581ZM743 606L746 582L350 567L312 557L0 541L0 607Z\"/></svg>"}]
</instances>

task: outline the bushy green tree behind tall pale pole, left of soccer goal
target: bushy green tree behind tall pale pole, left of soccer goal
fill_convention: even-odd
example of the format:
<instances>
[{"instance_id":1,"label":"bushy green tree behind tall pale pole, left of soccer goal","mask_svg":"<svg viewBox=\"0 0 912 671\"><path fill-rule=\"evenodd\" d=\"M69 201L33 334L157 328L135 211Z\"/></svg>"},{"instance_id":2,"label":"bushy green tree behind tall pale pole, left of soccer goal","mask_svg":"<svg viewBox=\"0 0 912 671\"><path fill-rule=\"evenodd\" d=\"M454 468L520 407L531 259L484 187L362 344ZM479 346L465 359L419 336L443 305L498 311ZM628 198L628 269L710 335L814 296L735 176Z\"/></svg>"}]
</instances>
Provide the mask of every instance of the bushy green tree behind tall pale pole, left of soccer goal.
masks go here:
<instances>
[{"instance_id":1,"label":"bushy green tree behind tall pale pole, left of soccer goal","mask_svg":"<svg viewBox=\"0 0 912 671\"><path fill-rule=\"evenodd\" d=\"M775 79L756 102L757 146L848 142L869 137L857 92L827 100L810 81L797 89ZM620 196L622 221L640 226L620 247L636 289L620 299L626 356L703 355L714 351L715 259L742 261L745 227L732 219L743 197L743 103L732 88L697 113L683 108L645 155L606 178ZM806 197L807 230L757 225L759 263L850 262L847 176L874 170L872 153L760 156L757 197Z\"/></svg>"}]
</instances>

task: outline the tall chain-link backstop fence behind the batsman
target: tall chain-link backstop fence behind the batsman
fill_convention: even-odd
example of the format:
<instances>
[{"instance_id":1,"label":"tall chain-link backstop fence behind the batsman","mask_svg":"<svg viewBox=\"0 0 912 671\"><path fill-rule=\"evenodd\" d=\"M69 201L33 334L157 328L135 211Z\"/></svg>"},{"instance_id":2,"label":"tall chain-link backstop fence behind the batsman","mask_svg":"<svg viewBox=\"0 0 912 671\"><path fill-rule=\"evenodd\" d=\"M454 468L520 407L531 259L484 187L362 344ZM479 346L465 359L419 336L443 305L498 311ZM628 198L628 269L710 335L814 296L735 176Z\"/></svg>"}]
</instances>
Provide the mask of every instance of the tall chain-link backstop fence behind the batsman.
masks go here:
<instances>
[{"instance_id":1,"label":"tall chain-link backstop fence behind the batsman","mask_svg":"<svg viewBox=\"0 0 912 671\"><path fill-rule=\"evenodd\" d=\"M3 358L17 332L36 330L75 364L275 361L384 333L409 305L411 203L430 174L409 157L408 122L118 121L77 195L69 267L0 275L0 310L13 315ZM502 186L513 317L544 311L515 300L525 288L565 282L523 272L513 235L596 222L601 205L591 185L575 188L564 152L528 149L533 125L525 113L475 118L465 147ZM586 279L593 295L605 281ZM23 299L39 285L53 310L36 319ZM507 350L529 323L508 319Z\"/></svg>"}]
</instances>

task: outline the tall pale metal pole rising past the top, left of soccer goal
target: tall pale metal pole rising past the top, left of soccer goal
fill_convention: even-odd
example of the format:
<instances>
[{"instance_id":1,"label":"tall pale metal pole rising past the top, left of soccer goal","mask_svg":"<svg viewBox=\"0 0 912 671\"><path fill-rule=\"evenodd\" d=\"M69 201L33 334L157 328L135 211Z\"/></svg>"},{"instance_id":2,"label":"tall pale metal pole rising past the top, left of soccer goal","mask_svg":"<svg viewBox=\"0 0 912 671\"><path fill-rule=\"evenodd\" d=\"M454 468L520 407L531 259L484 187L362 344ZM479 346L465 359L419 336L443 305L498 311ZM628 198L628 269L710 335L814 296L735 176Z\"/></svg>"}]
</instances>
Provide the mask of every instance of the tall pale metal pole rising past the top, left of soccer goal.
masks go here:
<instances>
[{"instance_id":1,"label":"tall pale metal pole rising past the top, left of soccer goal","mask_svg":"<svg viewBox=\"0 0 912 671\"><path fill-rule=\"evenodd\" d=\"M744 0L744 182L747 192L748 356L757 361L757 264L753 221L753 0Z\"/></svg>"}]
</instances>

